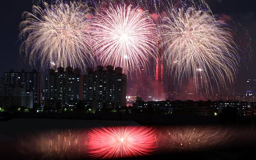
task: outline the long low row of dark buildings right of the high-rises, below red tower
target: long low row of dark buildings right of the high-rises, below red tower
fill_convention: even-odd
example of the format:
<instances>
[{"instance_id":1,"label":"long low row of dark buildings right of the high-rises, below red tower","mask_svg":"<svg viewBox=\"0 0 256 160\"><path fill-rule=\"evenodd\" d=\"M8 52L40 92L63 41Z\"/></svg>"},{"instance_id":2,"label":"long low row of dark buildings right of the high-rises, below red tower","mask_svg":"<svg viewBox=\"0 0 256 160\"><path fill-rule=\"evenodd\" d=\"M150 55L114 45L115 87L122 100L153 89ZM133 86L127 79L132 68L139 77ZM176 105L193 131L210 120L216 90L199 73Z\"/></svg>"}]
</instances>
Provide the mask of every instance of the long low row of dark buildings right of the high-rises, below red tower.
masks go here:
<instances>
[{"instance_id":1,"label":"long low row of dark buildings right of the high-rises, below red tower","mask_svg":"<svg viewBox=\"0 0 256 160\"><path fill-rule=\"evenodd\" d=\"M255 103L242 101L142 101L137 99L133 102L132 109L140 113L147 112L150 108L153 113L161 114L217 116L226 107L237 109L238 117L247 117L256 113Z\"/></svg>"}]
</instances>

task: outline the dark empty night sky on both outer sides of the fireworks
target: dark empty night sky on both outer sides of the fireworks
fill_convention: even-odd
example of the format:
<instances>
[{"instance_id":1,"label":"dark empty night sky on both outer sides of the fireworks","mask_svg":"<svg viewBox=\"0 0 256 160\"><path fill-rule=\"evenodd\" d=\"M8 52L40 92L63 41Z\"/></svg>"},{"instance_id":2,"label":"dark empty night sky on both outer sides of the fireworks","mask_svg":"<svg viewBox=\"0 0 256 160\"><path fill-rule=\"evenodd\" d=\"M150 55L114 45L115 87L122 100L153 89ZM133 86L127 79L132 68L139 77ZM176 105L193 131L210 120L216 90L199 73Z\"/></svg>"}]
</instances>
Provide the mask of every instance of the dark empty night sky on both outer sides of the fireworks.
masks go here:
<instances>
[{"instance_id":1,"label":"dark empty night sky on both outer sides of the fireworks","mask_svg":"<svg viewBox=\"0 0 256 160\"><path fill-rule=\"evenodd\" d=\"M256 51L256 10L254 0L207 0L214 14L228 15L233 21L241 23L249 30L252 38L252 49ZM19 54L19 23L22 21L23 11L31 12L32 0L5 0L1 2L1 42L0 42L0 75L11 68L20 71L22 68L32 70L25 63ZM248 70L241 67L237 75L237 90L241 87L247 78L256 78L256 58L252 58L252 63L248 64ZM2 76L1 76L2 77ZM240 87L238 87L240 86Z\"/></svg>"}]
</instances>

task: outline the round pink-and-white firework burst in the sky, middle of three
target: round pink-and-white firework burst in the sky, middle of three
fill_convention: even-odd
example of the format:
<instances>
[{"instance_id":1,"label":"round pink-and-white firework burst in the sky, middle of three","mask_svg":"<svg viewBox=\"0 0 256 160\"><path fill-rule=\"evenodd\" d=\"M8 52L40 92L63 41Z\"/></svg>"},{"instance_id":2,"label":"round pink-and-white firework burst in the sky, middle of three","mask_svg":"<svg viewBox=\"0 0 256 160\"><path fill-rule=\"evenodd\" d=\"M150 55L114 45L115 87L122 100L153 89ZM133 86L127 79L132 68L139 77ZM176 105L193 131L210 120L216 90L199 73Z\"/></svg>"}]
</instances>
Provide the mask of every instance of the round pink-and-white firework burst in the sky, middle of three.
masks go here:
<instances>
[{"instance_id":1,"label":"round pink-and-white firework burst in the sky, middle of three","mask_svg":"<svg viewBox=\"0 0 256 160\"><path fill-rule=\"evenodd\" d=\"M148 68L156 57L158 43L156 25L148 12L138 7L110 5L93 21L92 42L95 56L105 65L136 73L139 66Z\"/></svg>"}]
</instances>

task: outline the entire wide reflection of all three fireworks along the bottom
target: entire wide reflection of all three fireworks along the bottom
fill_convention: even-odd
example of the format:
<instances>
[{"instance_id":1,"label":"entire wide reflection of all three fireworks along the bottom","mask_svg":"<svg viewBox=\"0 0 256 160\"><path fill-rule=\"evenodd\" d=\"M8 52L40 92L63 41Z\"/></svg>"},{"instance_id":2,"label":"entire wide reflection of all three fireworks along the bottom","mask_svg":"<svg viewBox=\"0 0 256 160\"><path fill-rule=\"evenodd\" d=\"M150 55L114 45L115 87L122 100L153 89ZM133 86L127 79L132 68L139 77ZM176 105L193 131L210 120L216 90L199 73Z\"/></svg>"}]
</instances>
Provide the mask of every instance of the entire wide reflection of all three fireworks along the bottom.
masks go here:
<instances>
[{"instance_id":1,"label":"entire wide reflection of all three fireworks along the bottom","mask_svg":"<svg viewBox=\"0 0 256 160\"><path fill-rule=\"evenodd\" d=\"M20 139L21 153L40 159L125 158L202 151L233 143L234 130L221 127L100 127L49 131Z\"/></svg>"}]
</instances>

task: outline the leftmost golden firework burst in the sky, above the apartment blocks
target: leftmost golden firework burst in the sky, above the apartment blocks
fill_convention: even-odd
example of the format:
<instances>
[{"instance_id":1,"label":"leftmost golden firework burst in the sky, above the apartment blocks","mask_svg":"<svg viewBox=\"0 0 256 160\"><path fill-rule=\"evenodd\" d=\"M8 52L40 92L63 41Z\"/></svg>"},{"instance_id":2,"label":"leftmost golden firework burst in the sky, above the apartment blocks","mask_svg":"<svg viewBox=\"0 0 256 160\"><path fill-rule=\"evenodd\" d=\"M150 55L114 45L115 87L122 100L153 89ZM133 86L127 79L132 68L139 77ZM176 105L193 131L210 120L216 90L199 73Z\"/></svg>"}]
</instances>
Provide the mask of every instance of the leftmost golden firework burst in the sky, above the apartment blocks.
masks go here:
<instances>
[{"instance_id":1,"label":"leftmost golden firework burst in the sky, above the apartment blocks","mask_svg":"<svg viewBox=\"0 0 256 160\"><path fill-rule=\"evenodd\" d=\"M40 62L41 69L72 66L83 71L93 63L90 40L90 9L80 2L33 6L33 13L23 12L19 37L31 65Z\"/></svg>"}]
</instances>

